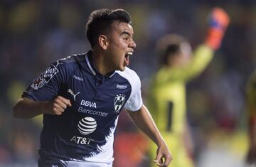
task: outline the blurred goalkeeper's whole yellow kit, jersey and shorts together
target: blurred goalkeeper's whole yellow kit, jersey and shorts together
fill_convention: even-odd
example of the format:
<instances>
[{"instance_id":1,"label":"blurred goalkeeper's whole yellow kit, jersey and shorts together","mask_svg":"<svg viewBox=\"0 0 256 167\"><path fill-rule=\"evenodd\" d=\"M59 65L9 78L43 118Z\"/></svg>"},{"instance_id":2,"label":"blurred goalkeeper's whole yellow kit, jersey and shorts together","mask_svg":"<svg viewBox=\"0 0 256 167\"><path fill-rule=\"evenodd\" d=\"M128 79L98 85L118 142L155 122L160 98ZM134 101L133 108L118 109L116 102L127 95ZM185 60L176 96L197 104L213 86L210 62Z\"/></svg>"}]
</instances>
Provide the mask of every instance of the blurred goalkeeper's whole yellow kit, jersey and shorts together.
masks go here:
<instances>
[{"instance_id":1,"label":"blurred goalkeeper's whole yellow kit, jersey and shorts together","mask_svg":"<svg viewBox=\"0 0 256 167\"><path fill-rule=\"evenodd\" d=\"M161 68L154 75L149 90L148 107L159 131L169 146L174 160L170 166L193 167L183 142L186 122L186 82L202 72L213 58L213 50L200 45L186 68ZM151 142L150 157L156 156ZM156 166L151 163L151 166Z\"/></svg>"}]
</instances>

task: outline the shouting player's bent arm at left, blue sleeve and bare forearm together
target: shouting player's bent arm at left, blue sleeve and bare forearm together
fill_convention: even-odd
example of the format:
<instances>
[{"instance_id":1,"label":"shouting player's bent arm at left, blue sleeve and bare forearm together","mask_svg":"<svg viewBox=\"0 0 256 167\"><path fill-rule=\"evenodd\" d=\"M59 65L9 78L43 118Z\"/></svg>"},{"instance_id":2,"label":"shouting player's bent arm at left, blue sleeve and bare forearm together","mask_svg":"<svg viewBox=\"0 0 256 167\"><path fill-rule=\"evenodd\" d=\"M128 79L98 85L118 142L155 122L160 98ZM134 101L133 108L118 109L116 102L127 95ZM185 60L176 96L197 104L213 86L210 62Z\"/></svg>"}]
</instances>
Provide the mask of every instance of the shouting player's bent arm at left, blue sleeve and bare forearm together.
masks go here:
<instances>
[{"instance_id":1,"label":"shouting player's bent arm at left, blue sleeve and bare forearm together","mask_svg":"<svg viewBox=\"0 0 256 167\"><path fill-rule=\"evenodd\" d=\"M71 106L70 99L58 95L69 71L65 59L49 65L18 99L13 108L14 117L31 119L40 114L62 114Z\"/></svg>"}]
</instances>

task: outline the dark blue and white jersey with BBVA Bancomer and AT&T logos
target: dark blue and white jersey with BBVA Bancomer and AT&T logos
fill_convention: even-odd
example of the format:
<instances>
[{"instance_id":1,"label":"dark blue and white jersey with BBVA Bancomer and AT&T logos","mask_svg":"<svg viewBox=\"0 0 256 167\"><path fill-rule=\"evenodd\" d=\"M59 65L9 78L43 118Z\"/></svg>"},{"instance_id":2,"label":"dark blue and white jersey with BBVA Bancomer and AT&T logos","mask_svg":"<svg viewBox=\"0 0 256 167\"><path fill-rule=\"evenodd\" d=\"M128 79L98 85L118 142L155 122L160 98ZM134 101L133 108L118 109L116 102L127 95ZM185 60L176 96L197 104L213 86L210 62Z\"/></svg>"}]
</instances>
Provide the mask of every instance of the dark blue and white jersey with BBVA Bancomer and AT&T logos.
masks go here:
<instances>
[{"instance_id":1,"label":"dark blue and white jersey with BBVA Bancomer and AT&T logos","mask_svg":"<svg viewBox=\"0 0 256 167\"><path fill-rule=\"evenodd\" d=\"M133 70L101 75L91 52L57 60L37 77L23 97L49 101L60 95L72 107L58 115L43 114L40 161L113 161L114 131L122 108L142 107L141 84Z\"/></svg>"}]
</instances>

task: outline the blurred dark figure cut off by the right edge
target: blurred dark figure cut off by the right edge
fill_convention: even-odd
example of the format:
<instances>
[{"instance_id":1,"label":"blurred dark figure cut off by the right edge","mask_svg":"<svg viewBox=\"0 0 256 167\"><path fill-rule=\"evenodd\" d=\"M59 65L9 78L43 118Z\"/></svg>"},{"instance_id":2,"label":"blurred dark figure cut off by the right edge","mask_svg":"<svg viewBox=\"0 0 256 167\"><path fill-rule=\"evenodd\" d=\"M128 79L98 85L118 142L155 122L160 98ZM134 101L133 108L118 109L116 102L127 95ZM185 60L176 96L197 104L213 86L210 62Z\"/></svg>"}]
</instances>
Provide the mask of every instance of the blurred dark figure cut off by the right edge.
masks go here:
<instances>
[{"instance_id":1,"label":"blurred dark figure cut off by the right edge","mask_svg":"<svg viewBox=\"0 0 256 167\"><path fill-rule=\"evenodd\" d=\"M256 70L250 76L246 88L250 139L246 162L256 165Z\"/></svg>"}]
</instances>

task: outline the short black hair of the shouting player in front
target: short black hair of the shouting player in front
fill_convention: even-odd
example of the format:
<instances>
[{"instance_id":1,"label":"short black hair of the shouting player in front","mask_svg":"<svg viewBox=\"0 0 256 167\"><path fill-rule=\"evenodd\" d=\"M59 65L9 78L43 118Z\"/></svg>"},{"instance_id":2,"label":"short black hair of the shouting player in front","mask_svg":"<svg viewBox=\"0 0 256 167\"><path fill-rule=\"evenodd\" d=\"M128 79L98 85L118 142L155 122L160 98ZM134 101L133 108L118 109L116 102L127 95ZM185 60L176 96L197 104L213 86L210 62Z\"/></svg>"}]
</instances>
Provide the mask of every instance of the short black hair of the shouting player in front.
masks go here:
<instances>
[{"instance_id":1,"label":"short black hair of the shouting player in front","mask_svg":"<svg viewBox=\"0 0 256 167\"><path fill-rule=\"evenodd\" d=\"M86 23L86 36L93 48L101 34L110 30L114 21L131 23L131 16L124 9L99 9L92 11Z\"/></svg>"}]
</instances>

